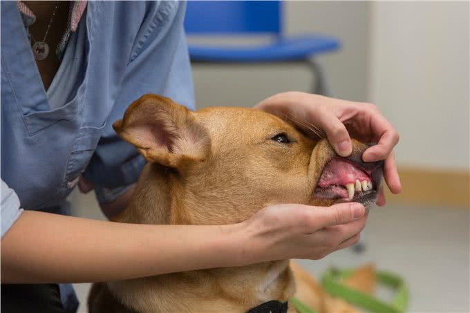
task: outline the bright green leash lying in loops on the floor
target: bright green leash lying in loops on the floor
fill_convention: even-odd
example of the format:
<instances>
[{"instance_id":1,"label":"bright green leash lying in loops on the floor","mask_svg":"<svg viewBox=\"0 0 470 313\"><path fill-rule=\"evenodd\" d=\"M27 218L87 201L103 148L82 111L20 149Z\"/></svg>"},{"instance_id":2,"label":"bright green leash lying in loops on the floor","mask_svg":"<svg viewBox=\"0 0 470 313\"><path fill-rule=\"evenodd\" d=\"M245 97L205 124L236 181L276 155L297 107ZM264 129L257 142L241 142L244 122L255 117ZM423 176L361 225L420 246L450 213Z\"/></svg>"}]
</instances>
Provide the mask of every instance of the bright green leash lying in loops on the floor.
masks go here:
<instances>
[{"instance_id":1,"label":"bright green leash lying in loops on the floor","mask_svg":"<svg viewBox=\"0 0 470 313\"><path fill-rule=\"evenodd\" d=\"M395 290L395 296L393 296L391 303L386 303L385 301L343 285L341 283L341 279L350 276L353 272L353 269L330 269L321 276L321 287L323 287L328 294L338 298L343 298L346 302L356 305L357 307L361 307L368 312L406 312L406 307L408 306L408 288L400 276L383 271L375 273L377 283ZM299 313L317 313L297 298L292 298L290 303L294 305Z\"/></svg>"}]
</instances>

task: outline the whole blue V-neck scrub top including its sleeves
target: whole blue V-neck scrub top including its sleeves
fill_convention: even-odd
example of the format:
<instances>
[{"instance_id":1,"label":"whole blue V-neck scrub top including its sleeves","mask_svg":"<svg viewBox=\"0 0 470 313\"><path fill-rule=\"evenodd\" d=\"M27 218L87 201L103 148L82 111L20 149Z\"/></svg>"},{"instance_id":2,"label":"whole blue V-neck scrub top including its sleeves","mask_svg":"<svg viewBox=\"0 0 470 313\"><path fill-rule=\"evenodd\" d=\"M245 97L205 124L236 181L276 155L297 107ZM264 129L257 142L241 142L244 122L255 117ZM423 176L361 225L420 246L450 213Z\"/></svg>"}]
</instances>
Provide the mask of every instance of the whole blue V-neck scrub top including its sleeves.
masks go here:
<instances>
[{"instance_id":1,"label":"whole blue V-neck scrub top including its sleeves","mask_svg":"<svg viewBox=\"0 0 470 313\"><path fill-rule=\"evenodd\" d=\"M144 93L191 109L194 95L184 2L88 1L47 93L16 1L0 6L3 236L21 209L64 213L80 175L135 182L144 160L112 123Z\"/></svg>"}]
</instances>

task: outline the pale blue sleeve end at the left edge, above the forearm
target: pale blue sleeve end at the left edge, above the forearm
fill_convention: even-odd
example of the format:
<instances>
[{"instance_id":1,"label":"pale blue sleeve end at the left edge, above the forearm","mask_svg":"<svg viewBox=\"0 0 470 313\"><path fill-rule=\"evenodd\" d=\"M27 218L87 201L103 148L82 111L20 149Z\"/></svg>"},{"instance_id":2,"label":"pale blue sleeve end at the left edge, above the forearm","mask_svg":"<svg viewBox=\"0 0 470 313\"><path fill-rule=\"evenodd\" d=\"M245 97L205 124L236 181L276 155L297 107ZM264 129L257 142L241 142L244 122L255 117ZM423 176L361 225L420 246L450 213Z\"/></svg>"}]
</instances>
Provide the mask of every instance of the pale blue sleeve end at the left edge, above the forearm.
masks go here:
<instances>
[{"instance_id":1,"label":"pale blue sleeve end at the left edge, above the forearm","mask_svg":"<svg viewBox=\"0 0 470 313\"><path fill-rule=\"evenodd\" d=\"M17 193L8 187L6 182L1 181L1 238L8 229L19 218L23 209L19 208L19 198Z\"/></svg>"}]
</instances>

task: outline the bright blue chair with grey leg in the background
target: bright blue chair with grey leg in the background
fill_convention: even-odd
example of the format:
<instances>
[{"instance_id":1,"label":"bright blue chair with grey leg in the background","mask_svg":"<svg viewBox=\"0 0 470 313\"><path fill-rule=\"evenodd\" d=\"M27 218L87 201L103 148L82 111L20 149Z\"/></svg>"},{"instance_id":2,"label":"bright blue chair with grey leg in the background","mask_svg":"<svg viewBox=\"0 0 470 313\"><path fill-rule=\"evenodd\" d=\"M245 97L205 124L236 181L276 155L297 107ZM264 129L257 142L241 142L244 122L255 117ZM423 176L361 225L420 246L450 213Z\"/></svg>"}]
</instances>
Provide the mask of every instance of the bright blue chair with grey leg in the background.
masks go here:
<instances>
[{"instance_id":1,"label":"bright blue chair with grey leg in the background","mask_svg":"<svg viewBox=\"0 0 470 313\"><path fill-rule=\"evenodd\" d=\"M312 57L339 48L339 41L323 35L282 35L282 1L188 1L185 17L187 35L265 35L269 44L193 45L193 63L241 64L291 62L305 64L314 75L313 93L328 95L323 71Z\"/></svg>"}]
</instances>

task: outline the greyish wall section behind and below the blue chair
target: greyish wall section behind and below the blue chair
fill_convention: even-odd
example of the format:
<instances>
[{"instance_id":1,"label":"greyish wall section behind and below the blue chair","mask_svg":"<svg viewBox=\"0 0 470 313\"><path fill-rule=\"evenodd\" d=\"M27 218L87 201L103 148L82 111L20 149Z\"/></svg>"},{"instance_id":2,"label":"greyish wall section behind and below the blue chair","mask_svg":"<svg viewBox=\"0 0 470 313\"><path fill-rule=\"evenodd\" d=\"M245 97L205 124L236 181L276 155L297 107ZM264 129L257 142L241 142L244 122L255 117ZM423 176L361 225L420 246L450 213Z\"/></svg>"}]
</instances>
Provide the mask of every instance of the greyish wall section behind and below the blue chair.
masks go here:
<instances>
[{"instance_id":1,"label":"greyish wall section behind and below the blue chair","mask_svg":"<svg viewBox=\"0 0 470 313\"><path fill-rule=\"evenodd\" d=\"M342 41L341 50L321 55L317 60L328 73L332 95L364 101L367 95L370 3L285 1L283 4L285 33L317 32ZM221 41L227 43L227 39ZM236 41L253 43L256 39L237 38ZM221 104L252 106L281 91L310 91L312 76L306 68L292 65L204 65L194 66L194 83L198 107Z\"/></svg>"}]
</instances>

